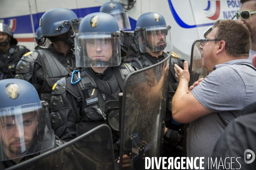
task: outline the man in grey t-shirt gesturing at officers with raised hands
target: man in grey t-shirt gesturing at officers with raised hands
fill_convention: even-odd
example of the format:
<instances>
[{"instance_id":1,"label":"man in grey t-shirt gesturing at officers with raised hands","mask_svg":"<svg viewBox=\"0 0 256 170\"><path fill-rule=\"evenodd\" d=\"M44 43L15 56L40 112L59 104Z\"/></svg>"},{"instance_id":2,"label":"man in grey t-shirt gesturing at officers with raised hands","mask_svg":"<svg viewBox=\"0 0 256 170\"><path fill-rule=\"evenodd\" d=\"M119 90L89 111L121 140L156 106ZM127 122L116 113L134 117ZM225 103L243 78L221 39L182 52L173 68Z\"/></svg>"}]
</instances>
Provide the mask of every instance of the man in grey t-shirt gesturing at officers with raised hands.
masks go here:
<instances>
[{"instance_id":1,"label":"man in grey t-shirt gesturing at officers with raised hands","mask_svg":"<svg viewBox=\"0 0 256 170\"><path fill-rule=\"evenodd\" d=\"M204 166L227 124L256 101L256 69L247 59L250 43L250 31L243 24L218 20L200 46L202 66L209 75L187 93L188 62L184 70L175 65L179 85L172 99L172 116L177 122L190 123L187 156L204 157Z\"/></svg>"}]
</instances>

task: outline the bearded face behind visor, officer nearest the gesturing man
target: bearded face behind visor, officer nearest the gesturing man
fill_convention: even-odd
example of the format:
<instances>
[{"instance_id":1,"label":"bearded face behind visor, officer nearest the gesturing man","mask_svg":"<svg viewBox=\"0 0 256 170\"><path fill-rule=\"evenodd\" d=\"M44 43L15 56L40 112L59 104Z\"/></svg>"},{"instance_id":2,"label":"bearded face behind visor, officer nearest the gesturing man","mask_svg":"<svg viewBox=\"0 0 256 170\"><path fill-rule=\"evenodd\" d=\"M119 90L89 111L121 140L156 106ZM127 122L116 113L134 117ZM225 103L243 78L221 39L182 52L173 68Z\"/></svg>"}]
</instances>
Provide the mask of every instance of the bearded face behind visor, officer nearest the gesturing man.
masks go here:
<instances>
[{"instance_id":1,"label":"bearded face behind visor, officer nearest the gesturing man","mask_svg":"<svg viewBox=\"0 0 256 170\"><path fill-rule=\"evenodd\" d=\"M166 30L147 31L147 43L154 47L165 45Z\"/></svg>"}]
</instances>

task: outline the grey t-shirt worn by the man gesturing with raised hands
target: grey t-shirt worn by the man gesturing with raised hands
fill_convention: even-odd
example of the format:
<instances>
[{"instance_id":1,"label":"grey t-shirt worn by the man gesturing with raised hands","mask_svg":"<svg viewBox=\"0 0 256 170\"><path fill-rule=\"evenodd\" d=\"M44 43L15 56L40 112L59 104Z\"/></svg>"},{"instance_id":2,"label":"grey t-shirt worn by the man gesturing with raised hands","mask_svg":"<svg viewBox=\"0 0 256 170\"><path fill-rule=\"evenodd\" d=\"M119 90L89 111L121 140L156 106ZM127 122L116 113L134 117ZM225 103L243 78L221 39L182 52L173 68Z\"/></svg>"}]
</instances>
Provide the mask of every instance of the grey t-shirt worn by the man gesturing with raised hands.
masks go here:
<instances>
[{"instance_id":1,"label":"grey t-shirt worn by the man gesturing with raised hands","mask_svg":"<svg viewBox=\"0 0 256 170\"><path fill-rule=\"evenodd\" d=\"M204 157L208 167L208 157L224 131L225 125L240 116L241 109L256 101L256 71L249 59L235 59L216 65L205 79L192 90L195 98L212 111L190 123L187 137L187 156ZM197 162L199 166L199 161Z\"/></svg>"}]
</instances>

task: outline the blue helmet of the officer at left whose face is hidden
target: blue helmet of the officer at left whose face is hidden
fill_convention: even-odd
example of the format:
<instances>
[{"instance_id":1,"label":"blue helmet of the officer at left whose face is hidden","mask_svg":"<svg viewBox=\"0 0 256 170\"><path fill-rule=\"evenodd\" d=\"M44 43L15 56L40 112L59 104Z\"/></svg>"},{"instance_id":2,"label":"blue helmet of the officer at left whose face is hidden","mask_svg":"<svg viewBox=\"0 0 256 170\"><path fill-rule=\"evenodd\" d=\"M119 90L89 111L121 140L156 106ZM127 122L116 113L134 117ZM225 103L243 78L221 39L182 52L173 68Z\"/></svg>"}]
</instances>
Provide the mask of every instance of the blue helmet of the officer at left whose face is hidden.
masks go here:
<instances>
[{"instance_id":1,"label":"blue helmet of the officer at left whose face is hidden","mask_svg":"<svg viewBox=\"0 0 256 170\"><path fill-rule=\"evenodd\" d=\"M68 8L54 8L46 11L40 19L42 36L54 37L70 30L70 20L76 19L75 12Z\"/></svg>"}]
</instances>

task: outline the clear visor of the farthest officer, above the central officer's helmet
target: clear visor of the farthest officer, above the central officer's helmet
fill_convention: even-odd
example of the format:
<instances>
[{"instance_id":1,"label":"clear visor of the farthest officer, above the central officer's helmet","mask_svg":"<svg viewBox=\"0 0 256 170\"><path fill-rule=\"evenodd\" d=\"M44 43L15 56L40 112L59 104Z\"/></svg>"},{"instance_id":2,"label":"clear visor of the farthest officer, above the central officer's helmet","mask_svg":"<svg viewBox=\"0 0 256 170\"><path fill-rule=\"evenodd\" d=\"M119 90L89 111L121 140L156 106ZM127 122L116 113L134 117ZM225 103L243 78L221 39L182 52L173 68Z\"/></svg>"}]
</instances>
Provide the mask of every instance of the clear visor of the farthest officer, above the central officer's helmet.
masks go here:
<instances>
[{"instance_id":1,"label":"clear visor of the farthest officer, above the central officer's helmet","mask_svg":"<svg viewBox=\"0 0 256 170\"><path fill-rule=\"evenodd\" d=\"M127 11L122 11L119 9L110 11L108 14L111 14L116 19L119 26L119 31L131 29Z\"/></svg>"}]
</instances>

